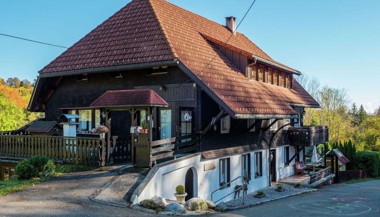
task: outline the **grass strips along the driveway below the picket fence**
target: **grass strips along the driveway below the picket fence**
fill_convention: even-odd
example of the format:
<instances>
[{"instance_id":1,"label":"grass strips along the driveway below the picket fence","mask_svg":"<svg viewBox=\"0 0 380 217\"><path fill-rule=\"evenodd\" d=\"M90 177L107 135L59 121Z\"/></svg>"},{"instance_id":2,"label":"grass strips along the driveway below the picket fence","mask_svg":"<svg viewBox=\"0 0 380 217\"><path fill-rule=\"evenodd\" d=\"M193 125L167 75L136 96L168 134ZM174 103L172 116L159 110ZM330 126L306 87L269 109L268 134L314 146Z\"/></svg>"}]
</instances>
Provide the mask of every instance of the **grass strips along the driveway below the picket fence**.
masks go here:
<instances>
[{"instance_id":1,"label":"grass strips along the driveway below the picket fence","mask_svg":"<svg viewBox=\"0 0 380 217\"><path fill-rule=\"evenodd\" d=\"M58 165L55 172L56 177L61 176L64 173L80 172L94 170L95 167L83 166L83 165ZM0 181L0 196L11 194L17 191L21 191L24 188L32 186L34 184L47 181L46 178L34 178L29 180L18 180L12 178L10 180Z\"/></svg>"}]
</instances>

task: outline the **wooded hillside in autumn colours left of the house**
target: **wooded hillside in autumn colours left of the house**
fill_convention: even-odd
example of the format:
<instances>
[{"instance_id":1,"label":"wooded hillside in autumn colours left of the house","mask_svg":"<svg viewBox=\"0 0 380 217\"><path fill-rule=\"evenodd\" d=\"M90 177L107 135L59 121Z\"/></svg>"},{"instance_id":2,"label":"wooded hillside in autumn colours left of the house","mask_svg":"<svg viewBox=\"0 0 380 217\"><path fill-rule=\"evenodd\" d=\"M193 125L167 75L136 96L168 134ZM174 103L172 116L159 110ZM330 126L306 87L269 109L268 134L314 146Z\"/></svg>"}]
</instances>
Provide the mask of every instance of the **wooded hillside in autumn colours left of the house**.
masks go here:
<instances>
[{"instance_id":1,"label":"wooded hillside in autumn colours left of the house","mask_svg":"<svg viewBox=\"0 0 380 217\"><path fill-rule=\"evenodd\" d=\"M0 78L0 131L16 130L42 116L26 109L33 88L28 80Z\"/></svg>"}]
</instances>

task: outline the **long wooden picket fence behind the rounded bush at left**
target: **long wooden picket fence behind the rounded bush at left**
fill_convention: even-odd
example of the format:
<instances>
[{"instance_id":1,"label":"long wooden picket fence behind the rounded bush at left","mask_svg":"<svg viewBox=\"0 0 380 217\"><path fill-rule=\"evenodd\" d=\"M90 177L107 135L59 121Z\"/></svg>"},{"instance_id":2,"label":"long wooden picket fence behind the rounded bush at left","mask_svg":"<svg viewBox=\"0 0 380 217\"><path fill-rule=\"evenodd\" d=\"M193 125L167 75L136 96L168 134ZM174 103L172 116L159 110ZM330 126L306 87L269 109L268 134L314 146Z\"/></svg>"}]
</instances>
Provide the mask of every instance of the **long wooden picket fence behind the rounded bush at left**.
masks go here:
<instances>
[{"instance_id":1,"label":"long wooden picket fence behind the rounded bush at left","mask_svg":"<svg viewBox=\"0 0 380 217\"><path fill-rule=\"evenodd\" d=\"M43 155L70 164L103 166L104 143L98 138L0 135L0 156L29 158Z\"/></svg>"}]
</instances>

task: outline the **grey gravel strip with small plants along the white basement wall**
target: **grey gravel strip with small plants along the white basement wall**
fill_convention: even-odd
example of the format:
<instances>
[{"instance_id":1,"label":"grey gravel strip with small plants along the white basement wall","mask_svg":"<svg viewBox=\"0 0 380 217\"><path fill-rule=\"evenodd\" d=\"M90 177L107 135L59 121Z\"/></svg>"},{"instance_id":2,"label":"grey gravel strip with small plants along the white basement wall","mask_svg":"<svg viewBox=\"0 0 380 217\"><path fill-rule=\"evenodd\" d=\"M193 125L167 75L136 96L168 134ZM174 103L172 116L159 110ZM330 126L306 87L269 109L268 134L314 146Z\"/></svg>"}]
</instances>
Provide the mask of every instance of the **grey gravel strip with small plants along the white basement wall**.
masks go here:
<instances>
[{"instance_id":1,"label":"grey gravel strip with small plants along the white basement wall","mask_svg":"<svg viewBox=\"0 0 380 217\"><path fill-rule=\"evenodd\" d=\"M272 200L272 199L276 199L276 198L283 197L286 195L302 193L302 192L313 189L313 188L308 188L308 187L295 188L294 186L283 185L283 188L285 188L285 191L284 192L277 192L277 191L275 191L276 188L277 188L277 186L272 186L272 187L268 187L268 188L263 189L262 191L265 194L265 197L263 197L263 198L254 197L256 192L249 193L247 196L244 197L244 205L255 204L255 203L265 201L265 200ZM229 207L241 206L241 205L243 205L243 197L239 197L239 198L236 198L234 200L228 201L228 202L226 202L226 205Z\"/></svg>"}]
</instances>

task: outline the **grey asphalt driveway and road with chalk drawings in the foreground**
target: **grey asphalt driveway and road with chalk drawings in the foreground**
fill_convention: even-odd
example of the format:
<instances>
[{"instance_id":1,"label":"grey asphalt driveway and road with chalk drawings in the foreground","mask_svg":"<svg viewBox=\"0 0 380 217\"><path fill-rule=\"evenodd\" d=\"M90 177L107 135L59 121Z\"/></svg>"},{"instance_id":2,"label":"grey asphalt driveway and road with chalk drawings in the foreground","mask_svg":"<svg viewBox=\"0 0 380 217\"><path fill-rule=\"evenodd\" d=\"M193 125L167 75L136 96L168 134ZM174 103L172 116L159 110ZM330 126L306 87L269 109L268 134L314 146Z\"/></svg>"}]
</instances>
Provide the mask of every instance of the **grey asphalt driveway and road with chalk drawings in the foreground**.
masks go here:
<instances>
[{"instance_id":1,"label":"grey asphalt driveway and road with chalk drawings in the foreground","mask_svg":"<svg viewBox=\"0 0 380 217\"><path fill-rule=\"evenodd\" d=\"M65 174L21 192L0 197L0 217L160 216L90 200L120 175L117 170ZM380 180L374 180L325 186L317 192L205 216L380 216L379 207Z\"/></svg>"}]
</instances>

